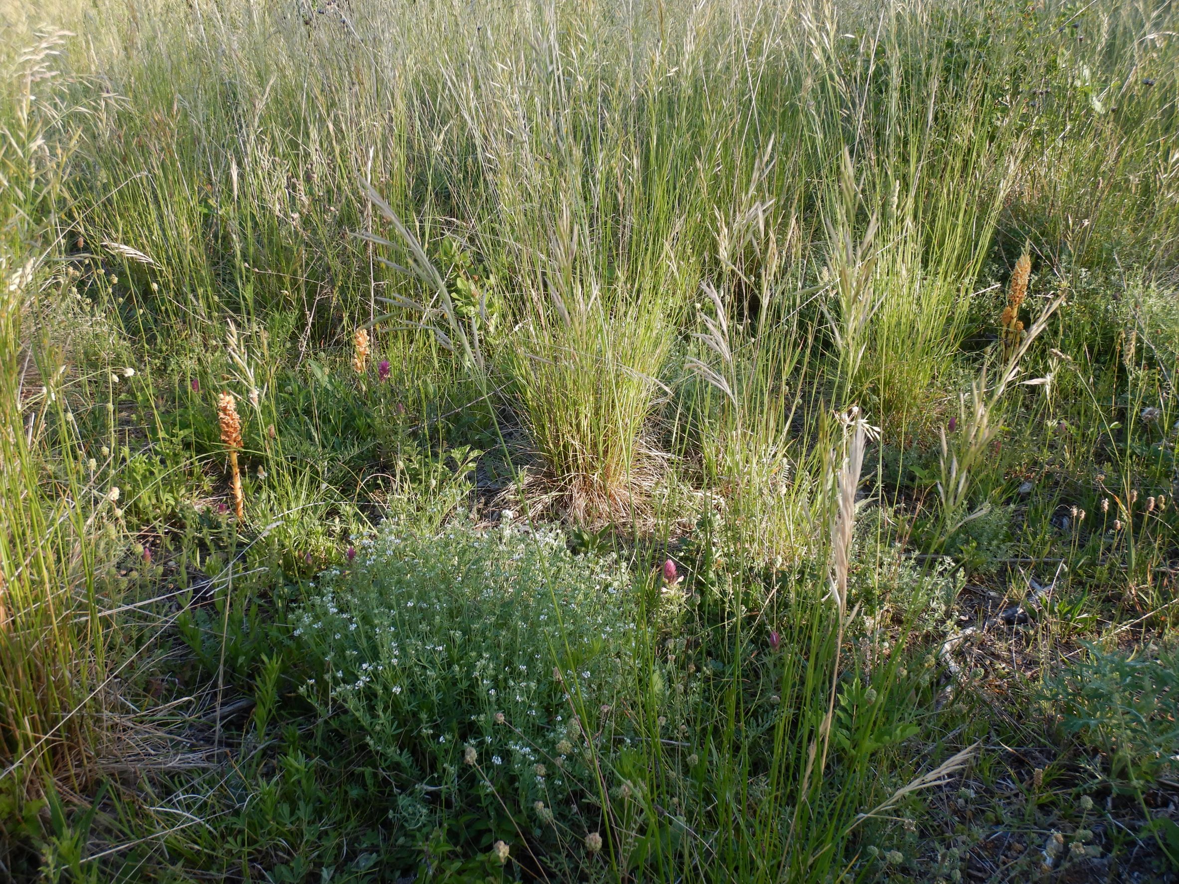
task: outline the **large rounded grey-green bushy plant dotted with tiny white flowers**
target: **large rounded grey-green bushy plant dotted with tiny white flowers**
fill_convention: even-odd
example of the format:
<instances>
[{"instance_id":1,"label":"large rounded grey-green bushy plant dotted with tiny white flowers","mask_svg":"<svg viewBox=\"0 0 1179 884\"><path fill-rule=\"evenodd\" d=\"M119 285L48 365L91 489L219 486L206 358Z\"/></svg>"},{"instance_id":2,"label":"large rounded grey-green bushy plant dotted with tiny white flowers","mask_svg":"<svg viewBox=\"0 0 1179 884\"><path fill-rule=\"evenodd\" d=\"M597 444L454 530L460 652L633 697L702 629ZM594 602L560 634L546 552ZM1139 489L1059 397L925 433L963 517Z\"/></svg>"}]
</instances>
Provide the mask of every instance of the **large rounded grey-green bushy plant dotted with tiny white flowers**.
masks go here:
<instances>
[{"instance_id":1,"label":"large rounded grey-green bushy plant dotted with tiny white flowers","mask_svg":"<svg viewBox=\"0 0 1179 884\"><path fill-rule=\"evenodd\" d=\"M317 669L303 693L397 784L393 816L419 829L481 806L499 820L487 850L597 811L634 612L625 567L555 528L390 521L320 576L292 632Z\"/></svg>"}]
</instances>

